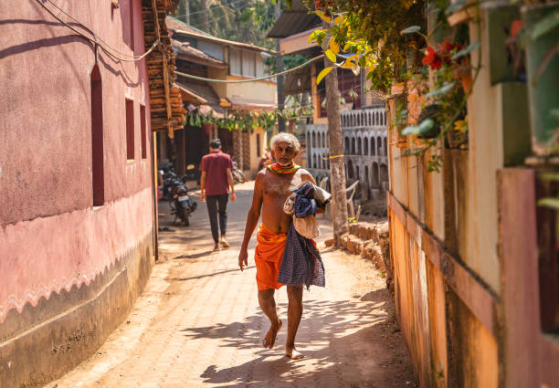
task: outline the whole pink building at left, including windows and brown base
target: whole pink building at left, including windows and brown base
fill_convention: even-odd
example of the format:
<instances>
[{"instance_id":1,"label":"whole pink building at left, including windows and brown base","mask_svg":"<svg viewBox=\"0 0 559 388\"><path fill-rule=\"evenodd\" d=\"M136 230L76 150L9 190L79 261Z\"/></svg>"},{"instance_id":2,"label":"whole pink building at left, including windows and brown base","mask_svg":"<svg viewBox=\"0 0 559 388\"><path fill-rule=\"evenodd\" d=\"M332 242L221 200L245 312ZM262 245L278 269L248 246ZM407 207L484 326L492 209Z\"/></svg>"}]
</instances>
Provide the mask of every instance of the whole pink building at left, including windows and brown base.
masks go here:
<instances>
[{"instance_id":1,"label":"whole pink building at left, including windows and brown base","mask_svg":"<svg viewBox=\"0 0 559 388\"><path fill-rule=\"evenodd\" d=\"M144 52L142 11L153 11L143 3L67 2L81 26L43 4L131 59ZM108 55L40 2L2 2L0 15L0 386L10 388L94 354L149 278L156 231L145 58Z\"/></svg>"}]
</instances>

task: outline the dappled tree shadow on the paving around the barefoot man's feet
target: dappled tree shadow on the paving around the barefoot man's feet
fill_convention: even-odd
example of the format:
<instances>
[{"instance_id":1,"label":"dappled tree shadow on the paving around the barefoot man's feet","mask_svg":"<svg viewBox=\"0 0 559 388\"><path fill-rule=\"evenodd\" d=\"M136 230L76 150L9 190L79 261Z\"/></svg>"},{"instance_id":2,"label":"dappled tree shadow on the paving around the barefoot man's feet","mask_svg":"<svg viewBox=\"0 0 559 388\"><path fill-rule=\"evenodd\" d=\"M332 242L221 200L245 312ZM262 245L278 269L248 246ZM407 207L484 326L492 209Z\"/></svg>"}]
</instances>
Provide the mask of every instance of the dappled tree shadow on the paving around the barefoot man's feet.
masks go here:
<instances>
[{"instance_id":1,"label":"dappled tree shadow on the paving around the barefoot man's feet","mask_svg":"<svg viewBox=\"0 0 559 388\"><path fill-rule=\"evenodd\" d=\"M385 305L387 297L386 290L378 290L364 295L362 301L306 301L298 334L300 341L310 339L301 344L306 362L293 362L279 356L283 354L285 343L287 325L284 324L274 351L262 349L256 352L254 360L229 368L209 365L200 377L205 383L237 388L246 387L248 383L267 386L272 381L274 386L282 386L282 383L289 386L294 381L298 386L306 386L306 383L318 386L317 375L321 376L321 381L324 375L331 375L334 386L414 387L415 379L409 373L409 365L404 364L403 358L402 362L397 362L397 351L387 339L387 330L393 331L394 328L386 322L385 310L378 309ZM286 317L287 304L280 303L278 307L280 316ZM213 338L223 347L249 350L260 346L261 318L261 315L254 314L242 322L217 323L182 331L191 339ZM380 372L372 374L373 367ZM408 383L403 383L404 380Z\"/></svg>"}]
</instances>

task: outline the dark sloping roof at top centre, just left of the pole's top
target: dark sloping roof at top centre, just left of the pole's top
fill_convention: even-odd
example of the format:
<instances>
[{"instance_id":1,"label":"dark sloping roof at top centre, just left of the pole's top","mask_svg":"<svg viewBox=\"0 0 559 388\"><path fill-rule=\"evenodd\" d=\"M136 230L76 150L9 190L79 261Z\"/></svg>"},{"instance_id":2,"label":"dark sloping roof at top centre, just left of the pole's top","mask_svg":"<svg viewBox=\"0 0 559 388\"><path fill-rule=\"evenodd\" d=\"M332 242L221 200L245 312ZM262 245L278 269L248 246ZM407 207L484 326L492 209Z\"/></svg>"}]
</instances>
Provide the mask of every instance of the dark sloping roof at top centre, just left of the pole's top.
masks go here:
<instances>
[{"instance_id":1,"label":"dark sloping roof at top centre, just left of the pole's top","mask_svg":"<svg viewBox=\"0 0 559 388\"><path fill-rule=\"evenodd\" d=\"M300 0L293 0L291 9L281 12L280 18L269 30L267 37L290 37L302 31L307 31L315 26L321 26L322 20L319 16L309 14L309 9L302 5Z\"/></svg>"}]
</instances>

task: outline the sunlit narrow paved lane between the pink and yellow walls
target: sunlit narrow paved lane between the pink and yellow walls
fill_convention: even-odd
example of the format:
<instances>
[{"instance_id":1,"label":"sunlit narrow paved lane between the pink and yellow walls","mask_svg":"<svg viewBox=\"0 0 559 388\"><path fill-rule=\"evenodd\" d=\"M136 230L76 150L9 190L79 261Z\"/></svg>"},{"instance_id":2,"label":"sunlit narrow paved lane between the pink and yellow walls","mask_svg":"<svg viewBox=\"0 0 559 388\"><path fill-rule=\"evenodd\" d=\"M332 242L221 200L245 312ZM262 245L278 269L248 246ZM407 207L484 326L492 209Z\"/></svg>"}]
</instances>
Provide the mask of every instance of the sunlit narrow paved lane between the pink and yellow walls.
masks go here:
<instances>
[{"instance_id":1,"label":"sunlit narrow paved lane between the pink and yellow walls","mask_svg":"<svg viewBox=\"0 0 559 388\"><path fill-rule=\"evenodd\" d=\"M274 350L261 348L269 323L258 308L254 263L237 267L253 182L237 185L228 205L231 247L211 253L206 204L189 227L175 226L162 204L160 255L132 313L97 354L49 388L62 387L415 387L394 302L370 262L324 248L327 288L304 293L298 348L283 357L286 326ZM251 244L254 251L255 241ZM277 293L286 323L285 288Z\"/></svg>"}]
</instances>

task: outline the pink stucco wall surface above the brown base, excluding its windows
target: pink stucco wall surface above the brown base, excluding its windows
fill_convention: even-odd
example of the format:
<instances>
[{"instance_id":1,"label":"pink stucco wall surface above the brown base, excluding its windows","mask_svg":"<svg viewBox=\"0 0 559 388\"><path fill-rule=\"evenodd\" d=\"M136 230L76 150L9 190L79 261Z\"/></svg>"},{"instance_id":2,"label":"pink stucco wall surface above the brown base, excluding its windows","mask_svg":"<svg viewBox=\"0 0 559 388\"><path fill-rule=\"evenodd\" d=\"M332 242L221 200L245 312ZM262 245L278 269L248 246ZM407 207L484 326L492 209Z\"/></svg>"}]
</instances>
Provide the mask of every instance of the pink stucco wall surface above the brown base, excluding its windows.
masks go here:
<instances>
[{"instance_id":1,"label":"pink stucco wall surface above the brown base, excluding its windows","mask_svg":"<svg viewBox=\"0 0 559 388\"><path fill-rule=\"evenodd\" d=\"M140 0L121 0L117 9L110 0L55 3L130 55L129 1L134 2L134 45L141 54ZM90 72L95 63L94 47L35 1L0 2L0 323L10 309L35 305L73 284L89 284L152 231L145 62L115 62L102 51L97 63L105 204L92 207ZM134 102L133 161L126 159L125 98ZM141 150L141 104L147 159Z\"/></svg>"}]
</instances>

